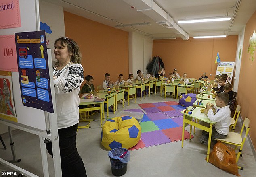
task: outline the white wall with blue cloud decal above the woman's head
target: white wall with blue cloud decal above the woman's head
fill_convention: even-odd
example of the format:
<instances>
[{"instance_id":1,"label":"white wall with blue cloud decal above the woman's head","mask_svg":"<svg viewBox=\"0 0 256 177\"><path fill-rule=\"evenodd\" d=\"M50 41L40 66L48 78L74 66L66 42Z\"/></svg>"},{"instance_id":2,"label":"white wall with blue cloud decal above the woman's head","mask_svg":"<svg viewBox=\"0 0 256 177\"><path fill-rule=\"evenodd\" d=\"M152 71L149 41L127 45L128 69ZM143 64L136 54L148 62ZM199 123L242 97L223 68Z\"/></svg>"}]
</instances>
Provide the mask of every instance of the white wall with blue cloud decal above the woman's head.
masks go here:
<instances>
[{"instance_id":1,"label":"white wall with blue cloud decal above the woman's head","mask_svg":"<svg viewBox=\"0 0 256 177\"><path fill-rule=\"evenodd\" d=\"M49 45L47 45L47 48L52 49L52 60L56 61L53 54L54 41L59 37L65 37L63 7L40 0L39 13L40 22L46 23L52 30L51 34L45 33L45 35L46 40L49 40Z\"/></svg>"}]
</instances>

